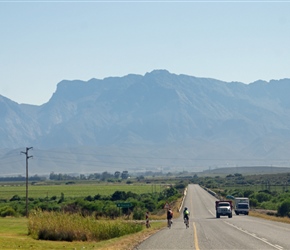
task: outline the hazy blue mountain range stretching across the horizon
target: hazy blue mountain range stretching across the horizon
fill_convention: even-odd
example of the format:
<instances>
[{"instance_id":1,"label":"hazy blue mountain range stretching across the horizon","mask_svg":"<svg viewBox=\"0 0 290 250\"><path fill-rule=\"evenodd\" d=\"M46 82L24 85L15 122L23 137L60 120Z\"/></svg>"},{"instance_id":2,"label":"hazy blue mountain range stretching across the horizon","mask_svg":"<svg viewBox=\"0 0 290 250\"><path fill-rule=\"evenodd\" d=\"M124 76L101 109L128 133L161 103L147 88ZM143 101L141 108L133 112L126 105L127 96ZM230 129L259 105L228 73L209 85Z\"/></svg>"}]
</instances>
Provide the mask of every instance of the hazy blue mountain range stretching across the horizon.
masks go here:
<instances>
[{"instance_id":1,"label":"hazy blue mountain range stretching across the horizon","mask_svg":"<svg viewBox=\"0 0 290 250\"><path fill-rule=\"evenodd\" d=\"M290 79L176 75L63 80L40 106L0 95L2 175L289 167Z\"/></svg>"}]
</instances>

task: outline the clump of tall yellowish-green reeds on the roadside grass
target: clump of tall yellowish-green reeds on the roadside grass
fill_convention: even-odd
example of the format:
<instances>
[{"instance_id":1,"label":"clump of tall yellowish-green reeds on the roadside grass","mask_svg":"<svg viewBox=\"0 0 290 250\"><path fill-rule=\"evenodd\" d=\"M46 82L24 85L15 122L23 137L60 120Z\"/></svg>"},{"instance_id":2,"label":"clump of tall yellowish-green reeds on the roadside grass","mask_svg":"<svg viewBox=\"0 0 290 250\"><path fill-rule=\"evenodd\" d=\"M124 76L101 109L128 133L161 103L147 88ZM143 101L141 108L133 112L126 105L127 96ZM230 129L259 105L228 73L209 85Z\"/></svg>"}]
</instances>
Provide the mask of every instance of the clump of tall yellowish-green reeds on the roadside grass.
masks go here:
<instances>
[{"instance_id":1,"label":"clump of tall yellowish-green reeds on the roadside grass","mask_svg":"<svg viewBox=\"0 0 290 250\"><path fill-rule=\"evenodd\" d=\"M136 233L141 223L124 220L96 220L92 216L57 212L30 213L28 233L34 239L58 241L101 241Z\"/></svg>"}]
</instances>

